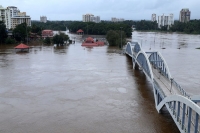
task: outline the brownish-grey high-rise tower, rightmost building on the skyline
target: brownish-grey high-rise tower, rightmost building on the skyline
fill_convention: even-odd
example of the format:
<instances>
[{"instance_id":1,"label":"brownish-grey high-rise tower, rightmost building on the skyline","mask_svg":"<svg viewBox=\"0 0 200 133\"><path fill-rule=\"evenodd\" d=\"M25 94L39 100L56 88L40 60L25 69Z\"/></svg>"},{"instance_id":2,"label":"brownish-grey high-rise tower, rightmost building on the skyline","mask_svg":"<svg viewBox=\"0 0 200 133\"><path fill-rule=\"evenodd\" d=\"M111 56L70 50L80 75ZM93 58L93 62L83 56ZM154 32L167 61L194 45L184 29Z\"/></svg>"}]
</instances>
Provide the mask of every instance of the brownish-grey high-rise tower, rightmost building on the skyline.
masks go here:
<instances>
[{"instance_id":1,"label":"brownish-grey high-rise tower, rightmost building on the skyline","mask_svg":"<svg viewBox=\"0 0 200 133\"><path fill-rule=\"evenodd\" d=\"M179 21L180 22L189 22L190 21L190 15L191 15L191 12L189 11L188 8L183 8L181 11L180 11L180 15L179 15Z\"/></svg>"}]
</instances>

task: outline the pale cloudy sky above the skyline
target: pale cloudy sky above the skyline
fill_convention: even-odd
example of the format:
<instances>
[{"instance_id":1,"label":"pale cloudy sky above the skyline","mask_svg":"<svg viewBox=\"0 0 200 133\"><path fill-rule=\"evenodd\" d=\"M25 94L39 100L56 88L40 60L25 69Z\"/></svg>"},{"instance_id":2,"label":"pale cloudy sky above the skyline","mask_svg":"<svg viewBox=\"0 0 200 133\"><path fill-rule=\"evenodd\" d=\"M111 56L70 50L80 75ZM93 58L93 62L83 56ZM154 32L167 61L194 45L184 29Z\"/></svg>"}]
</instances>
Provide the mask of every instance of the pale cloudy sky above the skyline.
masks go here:
<instances>
[{"instance_id":1,"label":"pale cloudy sky above the skyline","mask_svg":"<svg viewBox=\"0 0 200 133\"><path fill-rule=\"evenodd\" d=\"M200 0L0 0L0 5L16 6L32 20L40 16L48 20L82 20L87 13L101 20L150 20L152 13L173 13L176 20L182 8L189 8L191 19L200 19Z\"/></svg>"}]
</instances>

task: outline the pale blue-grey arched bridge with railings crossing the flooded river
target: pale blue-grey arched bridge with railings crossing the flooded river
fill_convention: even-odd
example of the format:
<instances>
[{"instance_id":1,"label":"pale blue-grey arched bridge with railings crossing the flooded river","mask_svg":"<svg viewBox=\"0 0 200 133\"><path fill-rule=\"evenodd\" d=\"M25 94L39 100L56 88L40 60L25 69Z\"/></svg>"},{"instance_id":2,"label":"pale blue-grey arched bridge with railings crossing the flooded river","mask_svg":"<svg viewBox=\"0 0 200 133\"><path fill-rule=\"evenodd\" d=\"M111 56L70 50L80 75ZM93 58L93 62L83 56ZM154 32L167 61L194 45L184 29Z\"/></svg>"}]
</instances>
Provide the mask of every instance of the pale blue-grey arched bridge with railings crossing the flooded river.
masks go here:
<instances>
[{"instance_id":1,"label":"pale blue-grey arched bridge with railings crossing the flooded river","mask_svg":"<svg viewBox=\"0 0 200 133\"><path fill-rule=\"evenodd\" d=\"M158 113L166 107L181 133L200 133L200 96L191 96L174 80L163 56L143 51L138 42L128 42L125 53L151 82Z\"/></svg>"}]
</instances>

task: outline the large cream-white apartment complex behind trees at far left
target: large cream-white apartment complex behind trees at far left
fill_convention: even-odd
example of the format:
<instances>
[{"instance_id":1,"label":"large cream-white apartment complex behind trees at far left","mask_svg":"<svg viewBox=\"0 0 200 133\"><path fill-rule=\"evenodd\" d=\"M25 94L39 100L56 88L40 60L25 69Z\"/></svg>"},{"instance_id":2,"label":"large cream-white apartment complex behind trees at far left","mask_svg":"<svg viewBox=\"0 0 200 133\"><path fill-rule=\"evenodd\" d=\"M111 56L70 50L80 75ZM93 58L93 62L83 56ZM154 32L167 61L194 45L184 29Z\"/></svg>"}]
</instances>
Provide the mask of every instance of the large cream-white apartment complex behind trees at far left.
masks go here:
<instances>
[{"instance_id":1,"label":"large cream-white apartment complex behind trees at far left","mask_svg":"<svg viewBox=\"0 0 200 133\"><path fill-rule=\"evenodd\" d=\"M15 6L3 8L0 6L0 20L4 21L7 29L14 29L21 23L27 23L31 26L31 18L26 15L26 12L20 12Z\"/></svg>"}]
</instances>

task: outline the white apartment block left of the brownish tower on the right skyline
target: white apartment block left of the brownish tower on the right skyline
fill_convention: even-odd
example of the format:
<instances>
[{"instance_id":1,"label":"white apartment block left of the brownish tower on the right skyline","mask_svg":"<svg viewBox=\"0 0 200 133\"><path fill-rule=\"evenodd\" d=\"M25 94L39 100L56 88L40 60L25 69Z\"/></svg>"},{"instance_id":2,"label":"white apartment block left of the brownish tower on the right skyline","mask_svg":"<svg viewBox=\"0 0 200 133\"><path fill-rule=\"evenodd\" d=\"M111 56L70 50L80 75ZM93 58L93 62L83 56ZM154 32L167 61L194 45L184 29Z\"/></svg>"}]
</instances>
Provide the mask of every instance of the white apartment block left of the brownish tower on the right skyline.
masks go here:
<instances>
[{"instance_id":1,"label":"white apartment block left of the brownish tower on the right skyline","mask_svg":"<svg viewBox=\"0 0 200 133\"><path fill-rule=\"evenodd\" d=\"M161 15L158 16L158 28L161 28L161 26L168 26L168 28L174 24L174 15L171 13L169 15Z\"/></svg>"}]
</instances>

